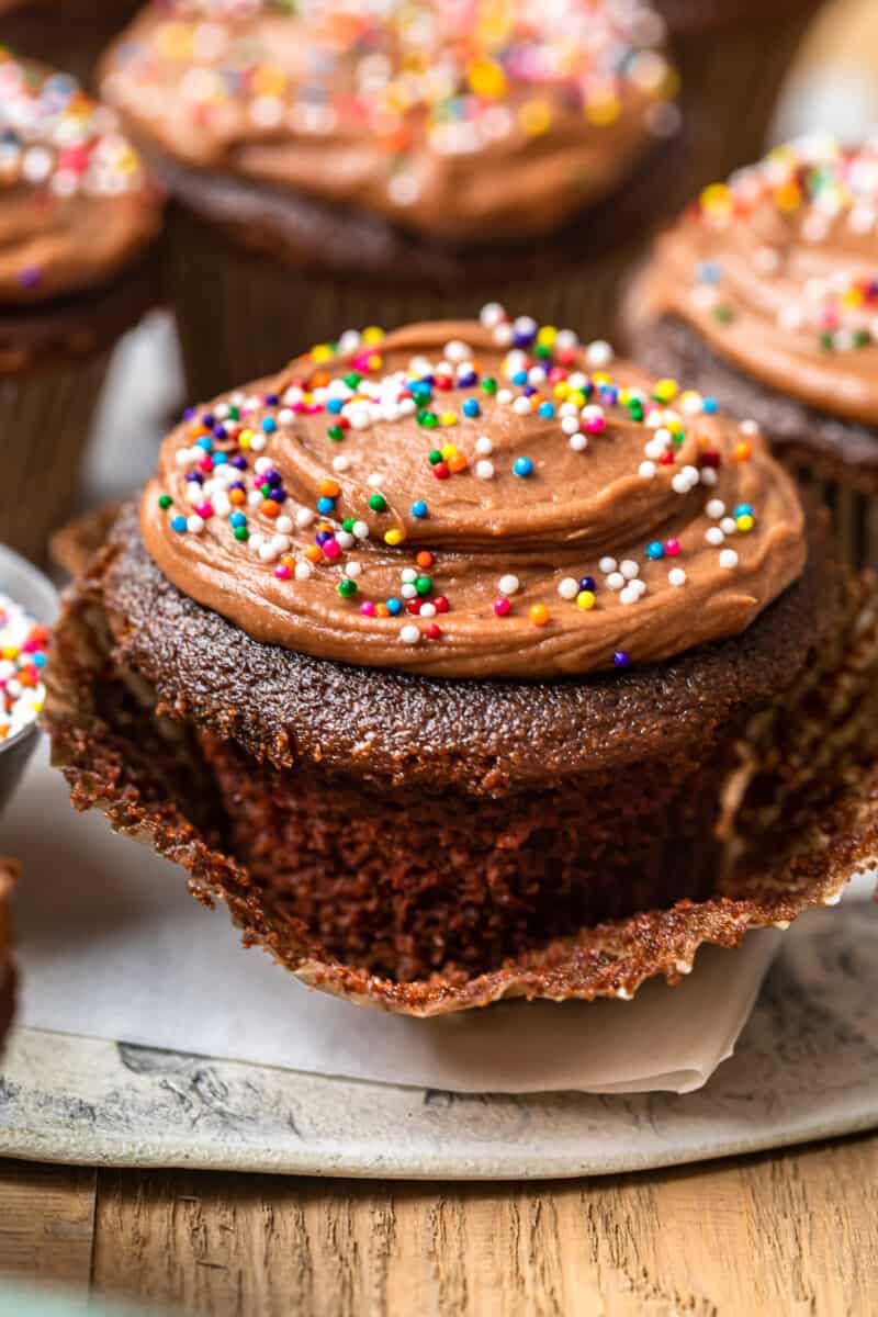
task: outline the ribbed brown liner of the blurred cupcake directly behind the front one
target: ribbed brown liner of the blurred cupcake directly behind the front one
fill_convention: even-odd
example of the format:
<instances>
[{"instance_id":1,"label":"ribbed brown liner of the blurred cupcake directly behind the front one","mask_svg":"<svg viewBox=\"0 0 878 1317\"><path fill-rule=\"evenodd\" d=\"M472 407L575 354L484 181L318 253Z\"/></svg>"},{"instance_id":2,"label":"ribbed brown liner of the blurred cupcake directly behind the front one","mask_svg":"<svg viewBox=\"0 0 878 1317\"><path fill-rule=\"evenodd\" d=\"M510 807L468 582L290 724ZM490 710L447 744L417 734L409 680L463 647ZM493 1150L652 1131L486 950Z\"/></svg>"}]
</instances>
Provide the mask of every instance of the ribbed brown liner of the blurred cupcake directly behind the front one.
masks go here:
<instances>
[{"instance_id":1,"label":"ribbed brown liner of the blurred cupcake directly behind the front one","mask_svg":"<svg viewBox=\"0 0 878 1317\"><path fill-rule=\"evenodd\" d=\"M538 279L479 282L477 275L432 286L407 281L404 270L376 281L295 266L249 250L178 208L168 234L168 287L190 398L205 400L237 379L258 379L348 328L478 319L487 302L513 306L538 324L573 328L582 338L604 337L642 241L566 261Z\"/></svg>"}]
</instances>

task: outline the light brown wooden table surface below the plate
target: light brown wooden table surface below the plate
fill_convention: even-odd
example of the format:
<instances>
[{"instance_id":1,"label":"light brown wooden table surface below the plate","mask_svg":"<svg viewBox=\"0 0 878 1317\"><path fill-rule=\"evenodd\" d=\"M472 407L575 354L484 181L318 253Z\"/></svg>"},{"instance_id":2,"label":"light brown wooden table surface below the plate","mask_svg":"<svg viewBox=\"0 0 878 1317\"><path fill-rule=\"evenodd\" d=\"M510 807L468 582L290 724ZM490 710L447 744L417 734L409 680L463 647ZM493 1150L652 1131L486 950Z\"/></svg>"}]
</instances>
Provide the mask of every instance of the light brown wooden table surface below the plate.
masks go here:
<instances>
[{"instance_id":1,"label":"light brown wooden table surface below the plate","mask_svg":"<svg viewBox=\"0 0 878 1317\"><path fill-rule=\"evenodd\" d=\"M878 1135L534 1185L0 1162L0 1271L209 1317L870 1317Z\"/></svg>"}]
</instances>

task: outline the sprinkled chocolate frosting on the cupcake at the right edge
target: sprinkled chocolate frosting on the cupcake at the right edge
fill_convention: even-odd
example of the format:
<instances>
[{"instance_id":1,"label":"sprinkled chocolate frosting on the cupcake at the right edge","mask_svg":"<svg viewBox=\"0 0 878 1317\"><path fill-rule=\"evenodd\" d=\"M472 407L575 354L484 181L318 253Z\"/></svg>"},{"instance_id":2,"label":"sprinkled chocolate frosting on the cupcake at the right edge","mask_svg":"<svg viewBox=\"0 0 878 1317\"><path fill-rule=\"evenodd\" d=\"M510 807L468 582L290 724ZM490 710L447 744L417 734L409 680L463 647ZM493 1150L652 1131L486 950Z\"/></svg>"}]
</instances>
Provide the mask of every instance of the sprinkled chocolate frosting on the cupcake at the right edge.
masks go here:
<instances>
[{"instance_id":1,"label":"sprinkled chocolate frosting on the cupcake at the right edge","mask_svg":"<svg viewBox=\"0 0 878 1317\"><path fill-rule=\"evenodd\" d=\"M748 375L878 421L878 141L803 140L706 188L632 309L681 316Z\"/></svg>"}]
</instances>

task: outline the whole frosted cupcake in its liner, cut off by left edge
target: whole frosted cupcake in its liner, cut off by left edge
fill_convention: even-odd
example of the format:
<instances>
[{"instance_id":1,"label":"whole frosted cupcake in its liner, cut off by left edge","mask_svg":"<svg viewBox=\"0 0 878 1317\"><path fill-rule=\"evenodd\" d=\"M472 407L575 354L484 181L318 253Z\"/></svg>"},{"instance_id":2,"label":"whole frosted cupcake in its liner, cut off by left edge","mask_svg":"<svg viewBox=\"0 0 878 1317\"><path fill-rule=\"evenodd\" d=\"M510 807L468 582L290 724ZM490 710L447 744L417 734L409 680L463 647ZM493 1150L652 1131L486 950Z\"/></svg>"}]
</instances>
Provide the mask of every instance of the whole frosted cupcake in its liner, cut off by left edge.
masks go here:
<instances>
[{"instance_id":1,"label":"whole frosted cupcake in its liner, cut off by left edge","mask_svg":"<svg viewBox=\"0 0 878 1317\"><path fill-rule=\"evenodd\" d=\"M0 49L0 533L68 511L109 353L158 295L161 202L112 111Z\"/></svg>"}]
</instances>

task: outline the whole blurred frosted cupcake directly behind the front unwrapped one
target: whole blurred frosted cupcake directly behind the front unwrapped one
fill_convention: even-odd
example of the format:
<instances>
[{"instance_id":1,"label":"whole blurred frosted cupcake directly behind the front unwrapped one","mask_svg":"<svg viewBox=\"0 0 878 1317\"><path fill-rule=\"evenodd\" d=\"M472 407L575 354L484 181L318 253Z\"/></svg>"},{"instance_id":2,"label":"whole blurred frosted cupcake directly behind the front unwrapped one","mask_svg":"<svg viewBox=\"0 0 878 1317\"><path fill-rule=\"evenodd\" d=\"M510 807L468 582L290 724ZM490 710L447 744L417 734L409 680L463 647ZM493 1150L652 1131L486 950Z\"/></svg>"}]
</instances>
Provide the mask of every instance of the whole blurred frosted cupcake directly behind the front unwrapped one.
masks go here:
<instances>
[{"instance_id":1,"label":"whole blurred frosted cupcake directly behind the front unwrapped one","mask_svg":"<svg viewBox=\"0 0 878 1317\"><path fill-rule=\"evenodd\" d=\"M662 33L642 0L146 9L103 88L178 202L192 396L340 325L475 315L495 290L606 332L674 204Z\"/></svg>"}]
</instances>

